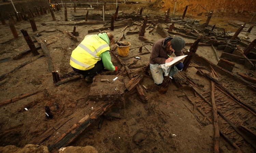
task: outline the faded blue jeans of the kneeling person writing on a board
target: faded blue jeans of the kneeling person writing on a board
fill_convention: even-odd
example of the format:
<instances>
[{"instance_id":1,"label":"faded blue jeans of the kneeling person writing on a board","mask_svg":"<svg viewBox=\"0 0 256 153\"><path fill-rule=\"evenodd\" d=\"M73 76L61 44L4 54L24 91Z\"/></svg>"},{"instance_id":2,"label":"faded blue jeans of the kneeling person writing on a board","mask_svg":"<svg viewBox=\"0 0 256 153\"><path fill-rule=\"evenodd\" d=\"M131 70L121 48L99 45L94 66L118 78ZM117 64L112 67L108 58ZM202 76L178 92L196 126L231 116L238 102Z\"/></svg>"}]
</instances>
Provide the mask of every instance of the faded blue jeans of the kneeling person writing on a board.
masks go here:
<instances>
[{"instance_id":1,"label":"faded blue jeans of the kneeling person writing on a board","mask_svg":"<svg viewBox=\"0 0 256 153\"><path fill-rule=\"evenodd\" d=\"M180 70L177 67L179 67ZM178 71L182 70L183 63L177 64L177 67L175 65L170 67L170 71L168 73L168 75L170 77L172 77ZM163 73L164 73L163 69L161 68L161 65L160 64L150 64L150 70L151 70L151 74L152 74L155 84L161 84L163 82Z\"/></svg>"}]
</instances>

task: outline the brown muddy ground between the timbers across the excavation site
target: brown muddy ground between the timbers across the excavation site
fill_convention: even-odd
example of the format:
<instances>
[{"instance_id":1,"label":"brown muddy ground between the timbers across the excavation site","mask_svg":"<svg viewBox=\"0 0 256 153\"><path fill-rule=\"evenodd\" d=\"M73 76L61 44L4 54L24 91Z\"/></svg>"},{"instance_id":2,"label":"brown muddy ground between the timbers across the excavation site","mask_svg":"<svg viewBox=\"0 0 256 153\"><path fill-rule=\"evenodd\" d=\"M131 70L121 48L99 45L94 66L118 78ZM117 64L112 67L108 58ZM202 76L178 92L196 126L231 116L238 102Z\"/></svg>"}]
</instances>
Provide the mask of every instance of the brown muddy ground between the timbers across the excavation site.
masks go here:
<instances>
[{"instance_id":1,"label":"brown muddy ground between the timbers across the excavation site","mask_svg":"<svg viewBox=\"0 0 256 153\"><path fill-rule=\"evenodd\" d=\"M136 9L142 4L136 5L123 5L120 6L119 11L124 13L131 13L132 11L137 12ZM125 10L125 8L131 8ZM114 13L113 6L107 7L106 14ZM73 30L73 16L84 15L87 10L76 10L76 13L70 8L68 9L68 21L64 21L64 10L54 12L57 21L52 21L50 14L43 15L41 17L35 17L35 23L38 31L32 32L30 23L28 21L21 21L15 24L15 28L18 31L19 38L13 39L13 35L8 25L2 25L0 32L0 54L1 59L13 57L19 52L28 49L28 45L23 38L21 29L27 30L29 35L35 36L40 33L40 38L44 41L44 44L48 48L54 70L58 71L61 80L70 78L77 75L73 72L69 65L70 55L73 49L83 40L84 36L88 34L88 30L98 29L103 27L103 24L77 26L76 31L79 32L77 36L78 42L75 42L68 38L65 34L60 31ZM101 14L102 10L89 10L89 14ZM160 14L163 12L154 12L148 8L147 14ZM121 16L121 14L119 14ZM198 18L198 17L195 17ZM249 18L249 17L248 17ZM215 18L214 21L218 22L219 27L229 28L231 31L229 34L232 35L236 31L237 27L228 25L229 22L240 24L245 22L248 18ZM203 17L200 19L205 21ZM78 21L84 22L84 21ZM69 25L65 25L69 23ZM141 23L141 22L136 22ZM210 24L212 24L210 22ZM216 23L217 25L217 23ZM246 24L246 28L250 27L250 24ZM168 28L165 24L162 25ZM179 25L176 25L179 26ZM129 29L135 28L137 25L128 27L125 33ZM182 26L181 26L182 27ZM138 27L139 28L139 27ZM121 31L124 27L115 28L114 31L106 30L111 32L116 39L120 37ZM147 29L145 37L150 41L156 41L162 38L156 30L152 33L148 33L151 29ZM98 32L90 33L97 34ZM255 39L256 30L253 28L250 38L248 41ZM178 36L178 35L175 35ZM243 31L240 37L245 37L245 31ZM138 34L125 35L125 41L131 43L130 48L142 46L145 43L138 39ZM193 43L194 39L185 38L186 43ZM35 43L35 46L39 46ZM149 51L151 51L152 44L145 45ZM112 47L113 48L113 47ZM147 52L146 48L143 48L143 52ZM189 49L190 46L186 46L184 50ZM243 47L242 47L243 48ZM42 49L38 49L40 55L43 55ZM221 55L223 50L217 50L218 56ZM115 53L117 53L115 51ZM209 46L199 46L197 54L214 64L217 64L217 60L214 56L214 52ZM52 73L47 70L47 58L45 56L39 57L40 55L33 56L32 53L24 55L19 60L13 60L12 58L1 62L0 74L8 73L22 65L27 61L31 61L25 66L20 67L16 71L13 71L1 79L1 91L0 101L17 97L22 94L26 94L33 91L38 91L37 94L29 96L27 98L12 102L10 104L0 107L0 145L15 145L23 147L26 144L35 144L35 140L45 134L45 131L51 128L56 122L62 119L68 119L65 124L60 128L53 130L54 132L47 137L43 142L39 144L45 146L53 145L56 140L72 125L77 123L81 118L92 112L92 107L99 106L102 101L88 100L88 94L91 84L86 83L84 78L76 81L71 81L59 86L55 86L52 78ZM136 65L144 66L149 62L150 54L139 55L138 48L130 49L128 57L120 57L126 64L132 63L135 58L133 56L138 55L141 60ZM108 74L116 75L117 77L124 78L124 84L130 80L127 73L120 73L124 68L111 54L113 65L118 66L117 72L110 72ZM201 93L205 92L208 100L210 100L209 93L211 93L211 81L203 76L196 74L199 69L197 59L191 63L187 71L182 74L177 74L178 78L181 75L186 75L190 80L193 80L198 85L197 90ZM202 71L210 73L208 69L202 69ZM148 72L150 72L148 70ZM243 65L236 64L233 73L241 72L255 75L255 71L246 69ZM254 109L255 104L255 90L247 87L246 84L239 82L237 79L230 78L229 76L218 73L219 80L225 87L227 87L233 94L240 98L243 102L251 105ZM102 123L101 129L98 129L99 119L93 122L87 129L80 134L70 146L93 146L99 152L213 152L213 124L206 120L196 109L193 109L193 105L184 96L185 91L188 96L196 102L199 102L198 107L204 106L203 102L200 102L197 94L191 90L188 86L184 85L180 87L177 83L172 81L167 93L160 95L158 92L159 86L156 86L153 79L144 77L140 82L141 85L146 86L148 89L145 90L148 97L148 102L143 103L136 90L130 92L125 91L125 100L115 103L114 108L118 108L121 119L105 118ZM217 91L217 89L216 89ZM208 94L208 95L207 95ZM183 96L182 96L183 95ZM222 99L227 96L219 98L219 103ZM231 100L230 100L231 101ZM218 102L216 102L218 103ZM199 106L200 105L200 106ZM220 104L221 105L221 104ZM53 119L47 119L45 117L45 106L49 106ZM231 106L238 106L231 109ZM240 124L247 126L254 133L256 131L256 120L255 115L248 112L243 107L239 107L234 101L234 105L229 105L230 109L226 107L219 108L227 117L236 125ZM28 109L28 111L25 110ZM210 106L200 108L212 119L211 111L208 110ZM246 122L247 121L247 122ZM223 118L219 117L220 129L226 133L233 142L243 152L255 152L255 148L250 146L247 141L244 140L239 134L228 126ZM142 132L146 135L144 141L138 145L132 141L133 135ZM230 133L229 133L230 132ZM227 134L228 133L228 134ZM254 143L255 145L255 143ZM239 152L239 149L233 148L223 137L220 137L221 152ZM56 151L56 150L55 150ZM54 151L54 152L55 152Z\"/></svg>"}]
</instances>

